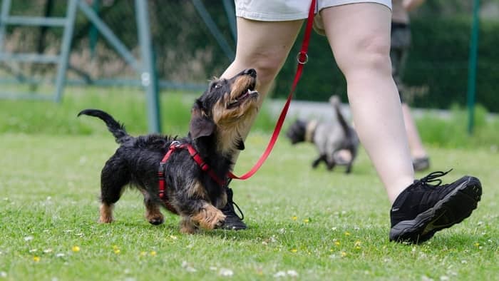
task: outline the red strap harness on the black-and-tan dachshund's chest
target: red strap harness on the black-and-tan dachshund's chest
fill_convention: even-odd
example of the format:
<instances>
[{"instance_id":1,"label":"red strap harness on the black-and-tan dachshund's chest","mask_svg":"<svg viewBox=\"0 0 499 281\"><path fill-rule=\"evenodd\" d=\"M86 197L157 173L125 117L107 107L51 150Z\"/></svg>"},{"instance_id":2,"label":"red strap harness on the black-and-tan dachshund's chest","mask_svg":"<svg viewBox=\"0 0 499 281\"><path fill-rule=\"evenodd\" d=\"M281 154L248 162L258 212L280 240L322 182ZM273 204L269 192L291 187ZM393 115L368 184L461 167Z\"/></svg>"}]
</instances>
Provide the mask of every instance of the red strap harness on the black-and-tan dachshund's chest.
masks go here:
<instances>
[{"instance_id":1,"label":"red strap harness on the black-and-tan dachshund's chest","mask_svg":"<svg viewBox=\"0 0 499 281\"><path fill-rule=\"evenodd\" d=\"M176 213L175 209L168 202L168 198L165 198L165 190L166 190L165 166L166 166L166 161L168 160L168 158L170 158L170 155L172 155L173 151L178 149L187 149L187 151L189 151L190 157L192 157L192 159L195 160L197 165L200 166L201 170L203 172L208 173L208 175L210 175L210 178L212 178L212 180L215 180L215 182L218 183L218 185L225 186L227 184L226 180L220 179L217 176L217 174L215 174L215 172L210 168L210 166L204 160L202 160L199 153L197 153L195 148L190 143L180 143L179 141L173 141L173 143L170 144L170 148L168 149L168 152L165 154L165 157L163 157L163 160L161 160L160 162L160 168L158 168L158 180L159 180L160 198L165 202L168 210L173 211L174 213ZM232 175L232 173L229 173L229 176L230 175Z\"/></svg>"}]
</instances>

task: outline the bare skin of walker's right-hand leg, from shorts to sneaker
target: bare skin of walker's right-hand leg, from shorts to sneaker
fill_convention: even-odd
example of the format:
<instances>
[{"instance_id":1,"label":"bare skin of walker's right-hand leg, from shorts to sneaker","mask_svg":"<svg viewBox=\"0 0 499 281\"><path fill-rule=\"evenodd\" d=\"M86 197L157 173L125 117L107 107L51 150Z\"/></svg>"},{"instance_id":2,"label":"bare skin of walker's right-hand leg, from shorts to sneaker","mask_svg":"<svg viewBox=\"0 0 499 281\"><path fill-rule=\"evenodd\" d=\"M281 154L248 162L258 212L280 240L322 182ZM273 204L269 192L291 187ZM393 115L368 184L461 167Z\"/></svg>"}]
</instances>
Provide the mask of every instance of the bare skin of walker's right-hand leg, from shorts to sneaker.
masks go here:
<instances>
[{"instance_id":1,"label":"bare skin of walker's right-hand leg, from shorts to sneaker","mask_svg":"<svg viewBox=\"0 0 499 281\"><path fill-rule=\"evenodd\" d=\"M391 76L391 11L380 4L360 3L330 7L321 16L346 78L356 131L393 203L413 182L414 171Z\"/></svg>"}]
</instances>

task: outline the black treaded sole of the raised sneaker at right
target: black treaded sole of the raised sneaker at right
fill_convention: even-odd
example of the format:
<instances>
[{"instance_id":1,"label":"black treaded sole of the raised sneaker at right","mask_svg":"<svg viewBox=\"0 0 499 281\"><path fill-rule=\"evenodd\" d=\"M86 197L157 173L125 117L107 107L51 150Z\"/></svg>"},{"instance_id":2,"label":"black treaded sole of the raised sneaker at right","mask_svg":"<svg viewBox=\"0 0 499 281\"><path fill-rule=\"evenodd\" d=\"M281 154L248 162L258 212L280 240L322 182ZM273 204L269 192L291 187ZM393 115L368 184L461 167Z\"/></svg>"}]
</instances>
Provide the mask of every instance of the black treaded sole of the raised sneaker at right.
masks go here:
<instances>
[{"instance_id":1,"label":"black treaded sole of the raised sneaker at right","mask_svg":"<svg viewBox=\"0 0 499 281\"><path fill-rule=\"evenodd\" d=\"M390 241L425 242L439 230L461 223L476 209L482 195L482 185L475 177L465 176L445 198L413 220L403 220L390 230Z\"/></svg>"}]
</instances>

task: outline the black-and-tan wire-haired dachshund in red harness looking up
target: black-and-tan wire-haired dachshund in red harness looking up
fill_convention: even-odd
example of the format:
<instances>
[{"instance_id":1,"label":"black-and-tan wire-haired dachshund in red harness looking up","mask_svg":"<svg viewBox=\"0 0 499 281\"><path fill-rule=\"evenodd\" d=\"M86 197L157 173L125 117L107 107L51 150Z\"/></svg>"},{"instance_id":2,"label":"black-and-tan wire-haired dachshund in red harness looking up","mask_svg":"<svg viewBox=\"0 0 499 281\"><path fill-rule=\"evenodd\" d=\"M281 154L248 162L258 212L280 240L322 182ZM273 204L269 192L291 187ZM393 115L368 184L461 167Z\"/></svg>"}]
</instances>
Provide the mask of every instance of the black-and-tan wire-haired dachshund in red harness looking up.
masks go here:
<instances>
[{"instance_id":1,"label":"black-and-tan wire-haired dachshund in red harness looking up","mask_svg":"<svg viewBox=\"0 0 499 281\"><path fill-rule=\"evenodd\" d=\"M153 225L163 223L163 207L180 215L181 233L219 228L225 220L220 208L227 203L225 179L232 155L245 148L239 132L257 113L256 83L254 69L211 81L192 106L189 133L184 138L133 137L104 111L78 113L104 121L120 145L101 171L99 223L113 222L113 206L130 185L143 194L145 218ZM158 175L163 178L158 180Z\"/></svg>"}]
</instances>

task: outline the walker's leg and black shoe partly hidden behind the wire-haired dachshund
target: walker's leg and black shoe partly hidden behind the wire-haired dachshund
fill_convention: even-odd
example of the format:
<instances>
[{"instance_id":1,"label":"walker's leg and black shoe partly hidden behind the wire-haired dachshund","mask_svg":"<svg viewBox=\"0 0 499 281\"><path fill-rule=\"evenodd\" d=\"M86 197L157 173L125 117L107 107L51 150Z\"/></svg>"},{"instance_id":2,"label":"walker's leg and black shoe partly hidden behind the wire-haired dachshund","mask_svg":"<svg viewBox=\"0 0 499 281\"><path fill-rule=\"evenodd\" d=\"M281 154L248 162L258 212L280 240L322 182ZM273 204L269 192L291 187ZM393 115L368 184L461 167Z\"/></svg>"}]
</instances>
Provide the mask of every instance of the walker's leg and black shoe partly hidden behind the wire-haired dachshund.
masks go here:
<instances>
[{"instance_id":1,"label":"walker's leg and black shoe partly hidden behind the wire-haired dachshund","mask_svg":"<svg viewBox=\"0 0 499 281\"><path fill-rule=\"evenodd\" d=\"M302 20L252 21L238 17L236 57L222 74L222 78L232 77L245 68L254 68L257 71L259 106L262 106L274 78L281 70L294 41L297 39L302 23ZM252 123L240 131L243 139L246 139ZM238 157L239 153L232 158L234 163ZM245 229L246 225L242 222L242 218L236 215L233 204L235 203L232 200L232 190L227 188L227 205L222 208L222 213L226 215L226 218L222 228L227 230Z\"/></svg>"}]
</instances>

